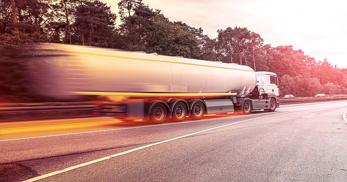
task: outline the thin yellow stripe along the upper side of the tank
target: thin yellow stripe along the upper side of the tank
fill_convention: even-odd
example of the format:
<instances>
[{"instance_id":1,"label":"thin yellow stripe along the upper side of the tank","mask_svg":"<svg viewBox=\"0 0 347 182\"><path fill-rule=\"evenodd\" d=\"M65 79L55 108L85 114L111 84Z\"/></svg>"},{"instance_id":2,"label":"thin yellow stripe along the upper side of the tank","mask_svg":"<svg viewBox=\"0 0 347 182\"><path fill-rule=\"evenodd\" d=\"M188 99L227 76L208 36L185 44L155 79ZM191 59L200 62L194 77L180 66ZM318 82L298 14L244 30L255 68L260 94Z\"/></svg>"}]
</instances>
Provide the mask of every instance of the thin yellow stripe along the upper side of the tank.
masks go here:
<instances>
[{"instance_id":1,"label":"thin yellow stripe along the upper side of the tank","mask_svg":"<svg viewBox=\"0 0 347 182\"><path fill-rule=\"evenodd\" d=\"M194 64L194 63L173 62L173 61L153 60L153 59L144 59L144 58L129 58L129 57L124 57L124 56L107 55L107 54L96 54L96 53L88 53L88 52L75 52L75 51L67 51L67 52L68 52L68 53L73 53L73 54L95 55L95 56L110 57L110 58L136 59L136 60L141 60L141 61L156 61L156 62L186 64L186 65L193 65L193 66L203 66L203 67L210 67L210 68L222 68L222 69L230 69L230 70L239 70L239 71L251 71L251 72L254 72L253 70L244 70L244 69L236 69L236 68L226 68L226 67L219 67L219 66L209 66L209 65Z\"/></svg>"}]
</instances>

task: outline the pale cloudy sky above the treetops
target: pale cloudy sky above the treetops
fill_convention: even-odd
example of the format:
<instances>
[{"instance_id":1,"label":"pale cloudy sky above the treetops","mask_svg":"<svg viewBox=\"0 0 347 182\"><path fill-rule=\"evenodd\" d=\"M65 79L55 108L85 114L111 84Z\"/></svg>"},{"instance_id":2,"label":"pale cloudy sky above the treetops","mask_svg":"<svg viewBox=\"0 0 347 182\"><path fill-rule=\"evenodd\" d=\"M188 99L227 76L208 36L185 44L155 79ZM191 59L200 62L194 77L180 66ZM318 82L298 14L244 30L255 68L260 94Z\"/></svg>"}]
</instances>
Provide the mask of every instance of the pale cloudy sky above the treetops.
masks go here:
<instances>
[{"instance_id":1,"label":"pale cloudy sky above the treetops","mask_svg":"<svg viewBox=\"0 0 347 182\"><path fill-rule=\"evenodd\" d=\"M118 14L119 0L101 0ZM347 68L347 2L342 0L143 0L171 21L201 27L217 38L217 30L247 27L264 43L293 45L317 61ZM120 24L118 18L117 23Z\"/></svg>"}]
</instances>

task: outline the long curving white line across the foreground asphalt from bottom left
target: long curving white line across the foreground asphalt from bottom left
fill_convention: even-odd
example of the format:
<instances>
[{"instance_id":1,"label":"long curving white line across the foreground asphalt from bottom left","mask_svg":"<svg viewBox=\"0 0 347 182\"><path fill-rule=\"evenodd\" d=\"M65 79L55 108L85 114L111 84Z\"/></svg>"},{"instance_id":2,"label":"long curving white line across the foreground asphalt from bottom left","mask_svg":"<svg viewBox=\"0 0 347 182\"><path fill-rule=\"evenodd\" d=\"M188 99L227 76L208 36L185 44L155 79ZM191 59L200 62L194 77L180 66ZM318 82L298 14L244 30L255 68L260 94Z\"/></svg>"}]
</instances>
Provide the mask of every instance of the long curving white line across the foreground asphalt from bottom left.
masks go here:
<instances>
[{"instance_id":1,"label":"long curving white line across the foreground asphalt from bottom left","mask_svg":"<svg viewBox=\"0 0 347 182\"><path fill-rule=\"evenodd\" d=\"M339 104L339 105L344 105L344 104ZM331 105L329 105L329 106L322 106L322 107L330 107L330 106ZM206 131L210 131L210 130L214 130L214 129L218 129L218 128L222 128L222 127L227 127L227 126L230 126L232 124L237 124L237 123L242 123L242 122L245 122L245 121L256 120L256 119L265 118L265 117L278 115L278 114L285 114L285 113L290 113L290 112L295 112L295 111L302 111L302 110L308 110L308 109L317 109L317 108L322 108L322 107L293 110L293 111L281 112L281 113L276 113L276 114L271 114L271 115L266 115L266 116L260 116L260 117L257 117L257 118L251 118L251 119L247 119L247 120L243 120L243 121L238 121L238 122L234 122L234 123L221 125L219 127L214 127L214 128L210 128L210 129L206 129L206 130L202 130L202 131L197 131L197 132L190 133L190 134L187 134L187 135L182 135L182 136L179 136L179 137L175 137L175 138L171 138L171 139L168 139L168 140L155 142L153 144L145 145L145 146L142 146L142 147L137 147L137 148L134 148L134 149L126 150L126 151L123 151L123 152L120 152L120 153L117 153L117 154L113 154L113 155L109 155L109 156L102 157L102 158L99 158L99 159L95 159L93 161L89 161L89 162L85 162L85 163L78 164L78 165L75 165L75 166L71 166L71 167L68 167L68 168L65 168L65 169L62 169L62 170L59 170L59 171L54 171L54 172L51 172L51 173L47 173L47 174L44 174L44 175L41 175L41 176L34 177L32 179L25 180L23 182L34 182L34 181L37 181L37 180L44 179L46 177L54 176L54 175L57 175L57 174L60 174L60 173L65 173L67 171L71 171L71 170L74 170L76 168L80 168L80 167L84 167L84 166L87 166L87 165L91 165L91 164L94 164L94 163L97 163L97 162L100 162L100 161L105 161L107 159L110 159L110 158L113 158L113 157L117 157L117 156L120 156L120 155L128 154L128 153L131 153L133 151L137 151L137 150L141 150L141 149L144 149L144 148L152 147L152 146L155 146L155 145L163 144L163 143L166 143L166 142L169 142L169 141L172 141L172 140L177 140L177 139L180 139L180 138L196 135L198 133L202 133L202 132L206 132Z\"/></svg>"}]
</instances>

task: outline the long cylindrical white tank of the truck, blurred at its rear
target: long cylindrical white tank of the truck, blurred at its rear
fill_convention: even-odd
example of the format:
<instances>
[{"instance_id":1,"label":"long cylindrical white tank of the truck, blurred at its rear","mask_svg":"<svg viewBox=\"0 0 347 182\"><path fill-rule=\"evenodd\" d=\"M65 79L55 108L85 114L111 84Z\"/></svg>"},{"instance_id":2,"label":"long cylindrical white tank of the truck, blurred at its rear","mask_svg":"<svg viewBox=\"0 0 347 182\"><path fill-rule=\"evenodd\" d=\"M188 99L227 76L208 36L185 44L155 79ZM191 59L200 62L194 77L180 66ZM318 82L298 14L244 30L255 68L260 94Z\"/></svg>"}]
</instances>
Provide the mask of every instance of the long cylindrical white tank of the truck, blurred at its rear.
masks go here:
<instances>
[{"instance_id":1,"label":"long cylindrical white tank of the truck, blurred at its rear","mask_svg":"<svg viewBox=\"0 0 347 182\"><path fill-rule=\"evenodd\" d=\"M237 93L253 90L252 68L97 47L40 44L33 76L42 94L69 92Z\"/></svg>"}]
</instances>

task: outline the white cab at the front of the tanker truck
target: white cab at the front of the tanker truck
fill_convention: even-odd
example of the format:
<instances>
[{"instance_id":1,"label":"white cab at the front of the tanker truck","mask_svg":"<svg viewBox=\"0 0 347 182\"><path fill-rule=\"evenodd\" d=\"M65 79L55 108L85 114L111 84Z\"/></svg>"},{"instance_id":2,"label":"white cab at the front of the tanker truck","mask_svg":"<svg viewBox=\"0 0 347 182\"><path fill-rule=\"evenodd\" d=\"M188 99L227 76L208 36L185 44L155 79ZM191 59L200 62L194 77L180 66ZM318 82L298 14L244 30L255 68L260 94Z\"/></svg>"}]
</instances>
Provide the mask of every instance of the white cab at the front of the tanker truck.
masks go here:
<instances>
[{"instance_id":1,"label":"white cab at the front of the tanker truck","mask_svg":"<svg viewBox=\"0 0 347 182\"><path fill-rule=\"evenodd\" d=\"M257 77L256 85L259 87L259 92L272 93L276 96L279 95L278 86L281 85L281 78L276 73L268 71L257 71L255 72Z\"/></svg>"}]
</instances>

